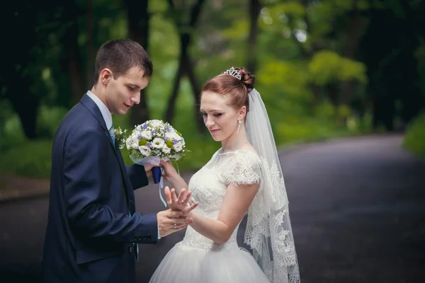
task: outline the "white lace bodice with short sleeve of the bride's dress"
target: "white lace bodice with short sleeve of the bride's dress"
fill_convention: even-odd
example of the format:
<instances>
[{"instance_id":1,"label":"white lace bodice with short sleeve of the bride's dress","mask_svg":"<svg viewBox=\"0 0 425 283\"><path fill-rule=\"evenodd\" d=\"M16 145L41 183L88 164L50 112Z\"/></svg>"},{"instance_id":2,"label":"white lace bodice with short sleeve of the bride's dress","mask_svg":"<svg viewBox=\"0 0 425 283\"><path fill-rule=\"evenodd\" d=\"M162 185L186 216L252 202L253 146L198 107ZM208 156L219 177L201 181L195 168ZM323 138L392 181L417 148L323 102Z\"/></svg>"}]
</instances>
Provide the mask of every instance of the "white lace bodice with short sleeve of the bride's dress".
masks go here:
<instances>
[{"instance_id":1,"label":"white lace bodice with short sleeve of the bride's dress","mask_svg":"<svg viewBox=\"0 0 425 283\"><path fill-rule=\"evenodd\" d=\"M261 159L254 151L237 150L227 153L217 151L189 182L193 201L199 202L195 211L210 219L217 219L222 201L229 184L245 185L260 183ZM216 245L212 240L188 226L180 248L208 251L234 250L237 246L237 229L223 245Z\"/></svg>"}]
</instances>

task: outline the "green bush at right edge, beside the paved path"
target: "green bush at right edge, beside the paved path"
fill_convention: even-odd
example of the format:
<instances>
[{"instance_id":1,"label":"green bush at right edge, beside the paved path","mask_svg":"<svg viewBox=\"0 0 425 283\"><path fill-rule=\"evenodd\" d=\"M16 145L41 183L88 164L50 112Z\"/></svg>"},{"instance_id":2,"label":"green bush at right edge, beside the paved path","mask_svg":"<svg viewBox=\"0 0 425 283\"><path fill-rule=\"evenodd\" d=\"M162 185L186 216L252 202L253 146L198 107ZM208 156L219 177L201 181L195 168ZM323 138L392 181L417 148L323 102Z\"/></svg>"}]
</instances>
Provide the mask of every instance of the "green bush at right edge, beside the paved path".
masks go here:
<instances>
[{"instance_id":1,"label":"green bush at right edge, beside the paved path","mask_svg":"<svg viewBox=\"0 0 425 283\"><path fill-rule=\"evenodd\" d=\"M416 156L425 158L425 112L422 112L407 127L403 146Z\"/></svg>"}]
</instances>

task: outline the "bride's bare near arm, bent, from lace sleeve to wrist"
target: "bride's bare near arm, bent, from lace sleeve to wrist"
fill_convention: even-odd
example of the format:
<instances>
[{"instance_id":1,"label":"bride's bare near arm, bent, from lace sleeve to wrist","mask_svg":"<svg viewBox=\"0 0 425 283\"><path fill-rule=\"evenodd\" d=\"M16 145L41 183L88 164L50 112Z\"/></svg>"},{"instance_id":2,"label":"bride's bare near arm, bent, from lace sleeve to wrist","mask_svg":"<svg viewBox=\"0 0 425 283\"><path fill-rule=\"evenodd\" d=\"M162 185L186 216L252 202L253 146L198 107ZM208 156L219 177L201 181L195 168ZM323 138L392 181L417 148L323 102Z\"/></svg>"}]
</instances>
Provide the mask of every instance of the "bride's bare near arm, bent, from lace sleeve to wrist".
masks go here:
<instances>
[{"instance_id":1,"label":"bride's bare near arm, bent, from lace sleeve to wrist","mask_svg":"<svg viewBox=\"0 0 425 283\"><path fill-rule=\"evenodd\" d=\"M258 189L259 183L229 185L218 218L209 219L193 210L189 214L193 218L190 225L217 245L226 243L244 217Z\"/></svg>"}]
</instances>

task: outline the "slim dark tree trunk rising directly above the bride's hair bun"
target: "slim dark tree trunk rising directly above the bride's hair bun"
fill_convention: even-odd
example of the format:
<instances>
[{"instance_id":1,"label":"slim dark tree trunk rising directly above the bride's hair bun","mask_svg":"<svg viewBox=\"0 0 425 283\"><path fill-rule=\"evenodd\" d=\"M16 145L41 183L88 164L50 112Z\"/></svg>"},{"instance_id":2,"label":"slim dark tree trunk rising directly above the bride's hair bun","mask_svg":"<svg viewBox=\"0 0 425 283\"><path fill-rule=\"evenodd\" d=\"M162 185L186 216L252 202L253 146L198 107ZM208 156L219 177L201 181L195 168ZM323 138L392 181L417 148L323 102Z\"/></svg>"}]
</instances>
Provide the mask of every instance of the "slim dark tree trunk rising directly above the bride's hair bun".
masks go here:
<instances>
[{"instance_id":1,"label":"slim dark tree trunk rising directly above the bride's hair bun","mask_svg":"<svg viewBox=\"0 0 425 283\"><path fill-rule=\"evenodd\" d=\"M256 42L259 34L259 16L261 10L261 4L259 0L250 0L249 1L249 38L248 38L248 62L246 67L248 71L255 74L257 68L257 52L256 52Z\"/></svg>"}]
</instances>

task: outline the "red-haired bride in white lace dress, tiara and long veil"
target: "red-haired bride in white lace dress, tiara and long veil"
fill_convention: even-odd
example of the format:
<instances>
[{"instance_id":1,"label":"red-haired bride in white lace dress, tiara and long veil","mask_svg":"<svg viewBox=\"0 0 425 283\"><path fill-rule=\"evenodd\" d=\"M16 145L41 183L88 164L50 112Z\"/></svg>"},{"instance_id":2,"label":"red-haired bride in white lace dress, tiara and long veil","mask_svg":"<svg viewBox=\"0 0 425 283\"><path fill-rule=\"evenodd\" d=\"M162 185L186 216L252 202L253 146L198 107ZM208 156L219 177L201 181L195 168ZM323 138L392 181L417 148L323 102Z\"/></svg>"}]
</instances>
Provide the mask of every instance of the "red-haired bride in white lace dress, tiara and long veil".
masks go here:
<instances>
[{"instance_id":1,"label":"red-haired bride in white lace dress, tiara and long veil","mask_svg":"<svg viewBox=\"0 0 425 283\"><path fill-rule=\"evenodd\" d=\"M177 190L179 198L166 187L170 208L184 211L189 195L199 205L189 214L193 223L183 241L167 253L151 283L300 282L285 183L254 79L232 67L203 86L200 112L222 147L189 185L171 163L164 164L173 187L188 187ZM252 255L237 245L246 213L244 241Z\"/></svg>"}]
</instances>

